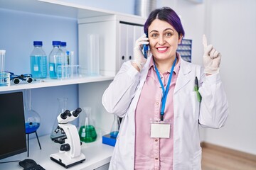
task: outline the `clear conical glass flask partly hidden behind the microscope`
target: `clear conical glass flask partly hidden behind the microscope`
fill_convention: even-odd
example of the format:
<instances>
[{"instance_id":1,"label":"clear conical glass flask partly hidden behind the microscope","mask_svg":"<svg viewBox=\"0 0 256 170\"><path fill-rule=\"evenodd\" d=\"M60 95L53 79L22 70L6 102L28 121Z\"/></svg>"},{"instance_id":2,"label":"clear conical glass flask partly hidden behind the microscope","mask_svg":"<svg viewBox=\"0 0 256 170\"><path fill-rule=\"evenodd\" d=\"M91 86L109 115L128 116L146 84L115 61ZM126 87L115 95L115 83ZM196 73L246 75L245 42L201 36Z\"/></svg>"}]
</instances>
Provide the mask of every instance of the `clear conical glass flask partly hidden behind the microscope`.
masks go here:
<instances>
[{"instance_id":1,"label":"clear conical glass flask partly hidden behind the microscope","mask_svg":"<svg viewBox=\"0 0 256 170\"><path fill-rule=\"evenodd\" d=\"M64 113L67 110L68 98L57 98L57 100L58 100L58 112L55 115L55 122L53 125L53 130L50 134L50 139L55 142L62 143L62 142L64 142L66 135L63 130L57 130L58 129L57 117L58 117L58 115L60 115L60 113Z\"/></svg>"}]
</instances>

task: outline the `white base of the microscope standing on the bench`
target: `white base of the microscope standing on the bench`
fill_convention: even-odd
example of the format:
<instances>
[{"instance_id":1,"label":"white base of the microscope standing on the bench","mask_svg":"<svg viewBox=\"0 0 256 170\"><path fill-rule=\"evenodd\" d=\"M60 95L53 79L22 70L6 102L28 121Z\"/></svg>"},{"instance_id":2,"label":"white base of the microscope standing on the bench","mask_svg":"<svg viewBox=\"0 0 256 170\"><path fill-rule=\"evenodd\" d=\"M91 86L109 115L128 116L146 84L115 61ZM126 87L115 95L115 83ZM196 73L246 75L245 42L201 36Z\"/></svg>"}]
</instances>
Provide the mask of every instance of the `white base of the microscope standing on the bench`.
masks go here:
<instances>
[{"instance_id":1,"label":"white base of the microscope standing on the bench","mask_svg":"<svg viewBox=\"0 0 256 170\"><path fill-rule=\"evenodd\" d=\"M56 154L51 154L50 159L53 160L53 162L56 162L60 164L61 166L64 166L66 169L69 168L70 166L80 164L83 161L85 161L85 155L80 154L80 156L75 157L75 158L70 158L67 154L63 153L56 153Z\"/></svg>"}]
</instances>

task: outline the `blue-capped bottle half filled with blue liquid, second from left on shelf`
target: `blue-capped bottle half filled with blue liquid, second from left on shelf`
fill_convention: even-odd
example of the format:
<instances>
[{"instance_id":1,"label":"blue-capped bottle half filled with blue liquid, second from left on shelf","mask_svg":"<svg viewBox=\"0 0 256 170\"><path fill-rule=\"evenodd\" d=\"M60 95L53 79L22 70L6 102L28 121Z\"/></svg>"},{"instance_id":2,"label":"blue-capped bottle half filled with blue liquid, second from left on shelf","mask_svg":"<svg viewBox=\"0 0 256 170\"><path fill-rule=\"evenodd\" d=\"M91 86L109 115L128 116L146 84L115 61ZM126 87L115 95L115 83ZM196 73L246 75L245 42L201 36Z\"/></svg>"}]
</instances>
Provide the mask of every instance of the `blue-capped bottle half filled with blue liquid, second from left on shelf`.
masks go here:
<instances>
[{"instance_id":1,"label":"blue-capped bottle half filled with blue liquid, second from left on shelf","mask_svg":"<svg viewBox=\"0 0 256 170\"><path fill-rule=\"evenodd\" d=\"M53 50L51 50L49 55L49 74L50 79L61 78L62 68L64 65L64 54L60 49L60 41L53 41Z\"/></svg>"}]
</instances>

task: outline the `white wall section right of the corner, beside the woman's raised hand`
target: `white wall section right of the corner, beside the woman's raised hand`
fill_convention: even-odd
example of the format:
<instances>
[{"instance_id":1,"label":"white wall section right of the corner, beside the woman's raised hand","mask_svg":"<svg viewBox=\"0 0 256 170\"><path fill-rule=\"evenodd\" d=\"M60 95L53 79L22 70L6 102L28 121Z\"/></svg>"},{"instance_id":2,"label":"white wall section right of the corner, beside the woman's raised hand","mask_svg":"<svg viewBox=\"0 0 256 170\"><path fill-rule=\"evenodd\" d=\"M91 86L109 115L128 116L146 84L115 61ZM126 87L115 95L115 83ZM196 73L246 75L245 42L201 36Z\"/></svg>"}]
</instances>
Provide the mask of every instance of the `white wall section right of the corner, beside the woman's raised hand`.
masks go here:
<instances>
[{"instance_id":1,"label":"white wall section right of the corner, beside the woman's raised hand","mask_svg":"<svg viewBox=\"0 0 256 170\"><path fill-rule=\"evenodd\" d=\"M256 1L210 0L210 40L220 52L221 77L230 105L225 127L206 141L256 154Z\"/></svg>"}]
</instances>

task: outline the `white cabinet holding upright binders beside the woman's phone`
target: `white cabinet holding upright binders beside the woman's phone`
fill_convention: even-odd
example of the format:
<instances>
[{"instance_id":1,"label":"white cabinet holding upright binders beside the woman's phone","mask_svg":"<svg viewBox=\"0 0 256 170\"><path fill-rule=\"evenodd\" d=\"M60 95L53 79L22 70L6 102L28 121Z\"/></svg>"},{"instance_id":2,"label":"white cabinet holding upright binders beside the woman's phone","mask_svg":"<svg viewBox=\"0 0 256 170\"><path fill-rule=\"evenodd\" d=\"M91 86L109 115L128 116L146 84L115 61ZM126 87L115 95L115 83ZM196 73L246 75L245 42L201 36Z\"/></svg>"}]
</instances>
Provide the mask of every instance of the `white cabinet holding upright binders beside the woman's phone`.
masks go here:
<instances>
[{"instance_id":1,"label":"white cabinet holding upright binders beside the woman's phone","mask_svg":"<svg viewBox=\"0 0 256 170\"><path fill-rule=\"evenodd\" d=\"M86 35L97 34L100 35L100 74L117 74L123 62L133 59L134 41L142 35L144 22L139 16L120 14L78 19L80 67L86 69Z\"/></svg>"}]
</instances>

